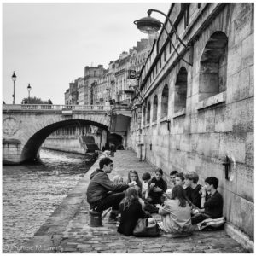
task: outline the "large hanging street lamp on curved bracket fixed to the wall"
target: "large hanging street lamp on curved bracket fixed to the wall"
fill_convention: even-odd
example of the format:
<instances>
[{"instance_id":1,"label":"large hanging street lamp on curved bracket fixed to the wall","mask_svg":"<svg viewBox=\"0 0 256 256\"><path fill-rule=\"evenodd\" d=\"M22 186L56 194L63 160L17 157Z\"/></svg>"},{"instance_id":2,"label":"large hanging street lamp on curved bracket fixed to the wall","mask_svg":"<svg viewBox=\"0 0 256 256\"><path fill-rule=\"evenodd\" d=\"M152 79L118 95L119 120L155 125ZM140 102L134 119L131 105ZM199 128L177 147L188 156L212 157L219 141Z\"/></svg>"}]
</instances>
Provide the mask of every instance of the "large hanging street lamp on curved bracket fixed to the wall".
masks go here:
<instances>
[{"instance_id":1,"label":"large hanging street lamp on curved bracket fixed to the wall","mask_svg":"<svg viewBox=\"0 0 256 256\"><path fill-rule=\"evenodd\" d=\"M172 26L172 31L169 33L166 30L166 26L165 24L163 24L162 22L160 22L160 20L154 19L152 18L150 15L152 12L156 12L156 13L160 13L161 15L164 15L166 17L166 19L170 22L171 26ZM177 55L187 64L189 64L190 66L192 66L192 63L190 61L186 61L183 59L183 57L178 53L177 49L175 48L174 44L172 43L172 38L171 35L173 33L175 33L175 36L177 38L177 41L179 41L183 47L187 50L189 50L189 47L183 43L183 40L181 38L179 38L179 36L177 35L177 30L175 28L175 26L173 26L172 24L172 20L170 20L170 18L164 14L163 12L161 12L160 10L157 9L148 9L148 17L144 17L140 20L135 20L134 24L137 26L137 28L143 32L143 33L148 33L148 34L153 34L155 32L158 32L160 30L161 27L163 27L163 29L166 31L167 37L170 40L170 43L172 44L173 49L176 51ZM170 35L171 34L171 35ZM190 56L189 56L190 58Z\"/></svg>"}]
</instances>

